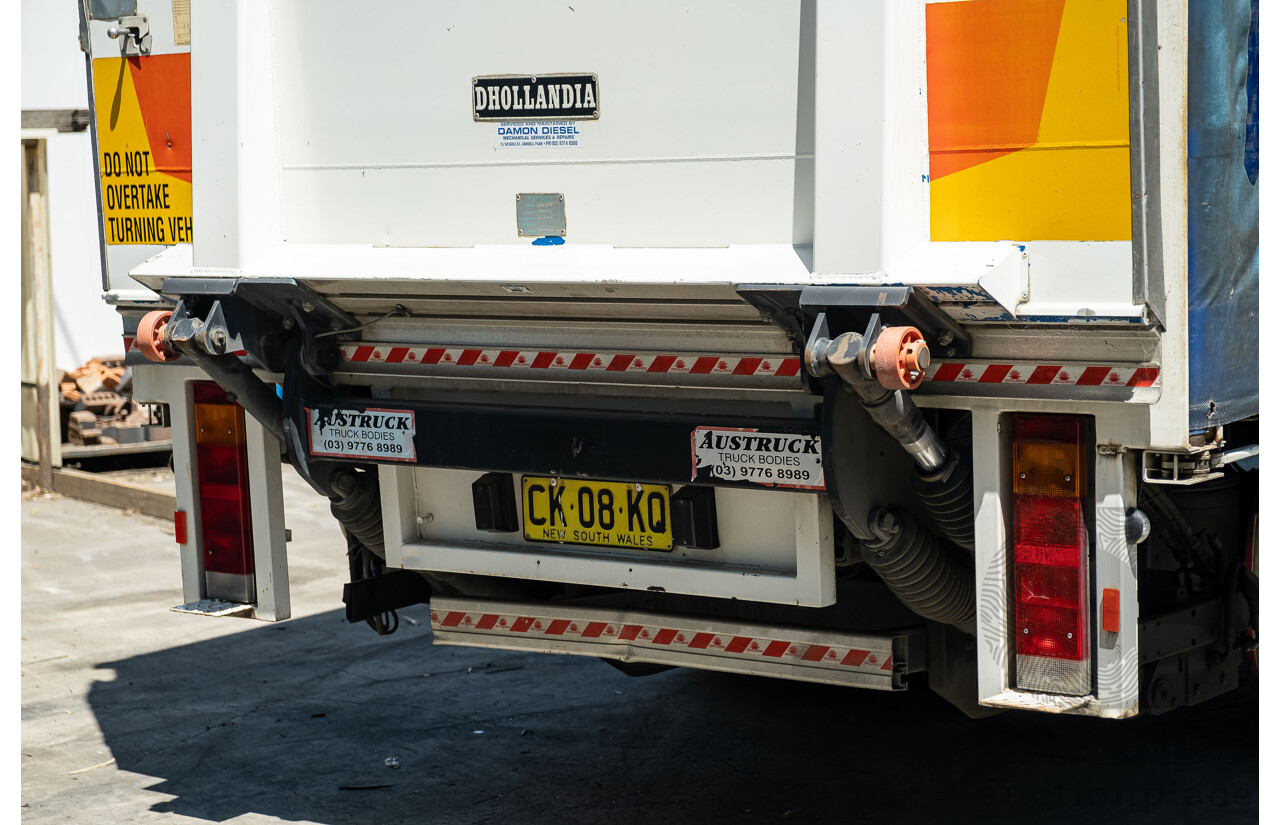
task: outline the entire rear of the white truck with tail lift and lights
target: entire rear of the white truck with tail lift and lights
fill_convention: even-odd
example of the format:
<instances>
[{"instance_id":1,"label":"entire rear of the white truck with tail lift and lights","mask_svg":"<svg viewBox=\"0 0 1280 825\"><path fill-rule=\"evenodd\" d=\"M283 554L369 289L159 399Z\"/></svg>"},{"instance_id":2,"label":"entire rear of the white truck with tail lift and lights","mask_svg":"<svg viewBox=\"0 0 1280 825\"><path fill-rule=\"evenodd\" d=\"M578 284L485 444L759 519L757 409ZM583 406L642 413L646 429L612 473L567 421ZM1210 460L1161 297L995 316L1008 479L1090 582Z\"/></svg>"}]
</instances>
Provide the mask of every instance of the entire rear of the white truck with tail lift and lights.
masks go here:
<instances>
[{"instance_id":1,"label":"entire rear of the white truck with tail lift and lights","mask_svg":"<svg viewBox=\"0 0 1280 825\"><path fill-rule=\"evenodd\" d=\"M1126 718L1257 645L1257 5L93 0L183 610ZM198 230L198 234L196 234Z\"/></svg>"}]
</instances>

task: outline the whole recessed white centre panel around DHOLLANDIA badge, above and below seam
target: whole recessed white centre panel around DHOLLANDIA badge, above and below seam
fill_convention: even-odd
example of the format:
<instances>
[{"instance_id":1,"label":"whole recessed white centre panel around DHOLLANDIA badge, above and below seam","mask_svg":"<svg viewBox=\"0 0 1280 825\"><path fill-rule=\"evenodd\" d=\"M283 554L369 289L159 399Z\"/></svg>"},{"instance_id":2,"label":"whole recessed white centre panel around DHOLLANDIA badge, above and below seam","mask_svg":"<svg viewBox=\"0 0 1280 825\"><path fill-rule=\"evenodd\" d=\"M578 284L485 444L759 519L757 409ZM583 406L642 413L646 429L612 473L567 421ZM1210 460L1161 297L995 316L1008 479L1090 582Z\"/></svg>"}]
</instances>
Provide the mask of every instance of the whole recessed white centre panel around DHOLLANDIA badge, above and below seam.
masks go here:
<instances>
[{"instance_id":1,"label":"whole recessed white centre panel around DHOLLANDIA badge, above and below seam","mask_svg":"<svg viewBox=\"0 0 1280 825\"><path fill-rule=\"evenodd\" d=\"M563 193L570 243L808 240L799 3L402 0L362 8L378 47L340 60L349 4L276 5L289 242L527 243L518 192ZM472 77L563 72L599 78L584 145L495 152Z\"/></svg>"}]
</instances>

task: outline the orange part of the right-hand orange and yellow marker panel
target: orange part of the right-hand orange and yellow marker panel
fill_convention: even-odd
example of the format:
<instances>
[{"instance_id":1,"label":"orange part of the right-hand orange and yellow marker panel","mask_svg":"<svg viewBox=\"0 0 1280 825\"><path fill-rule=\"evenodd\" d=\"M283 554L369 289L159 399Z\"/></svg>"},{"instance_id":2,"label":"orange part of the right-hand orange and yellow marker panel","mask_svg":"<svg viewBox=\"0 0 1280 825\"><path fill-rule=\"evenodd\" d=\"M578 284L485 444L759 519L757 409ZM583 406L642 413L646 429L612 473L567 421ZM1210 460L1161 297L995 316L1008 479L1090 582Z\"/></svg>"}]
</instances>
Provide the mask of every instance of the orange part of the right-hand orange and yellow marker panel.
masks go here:
<instances>
[{"instance_id":1,"label":"orange part of the right-hand orange and yellow marker panel","mask_svg":"<svg viewBox=\"0 0 1280 825\"><path fill-rule=\"evenodd\" d=\"M1036 143L1065 3L924 8L932 180Z\"/></svg>"}]
</instances>

